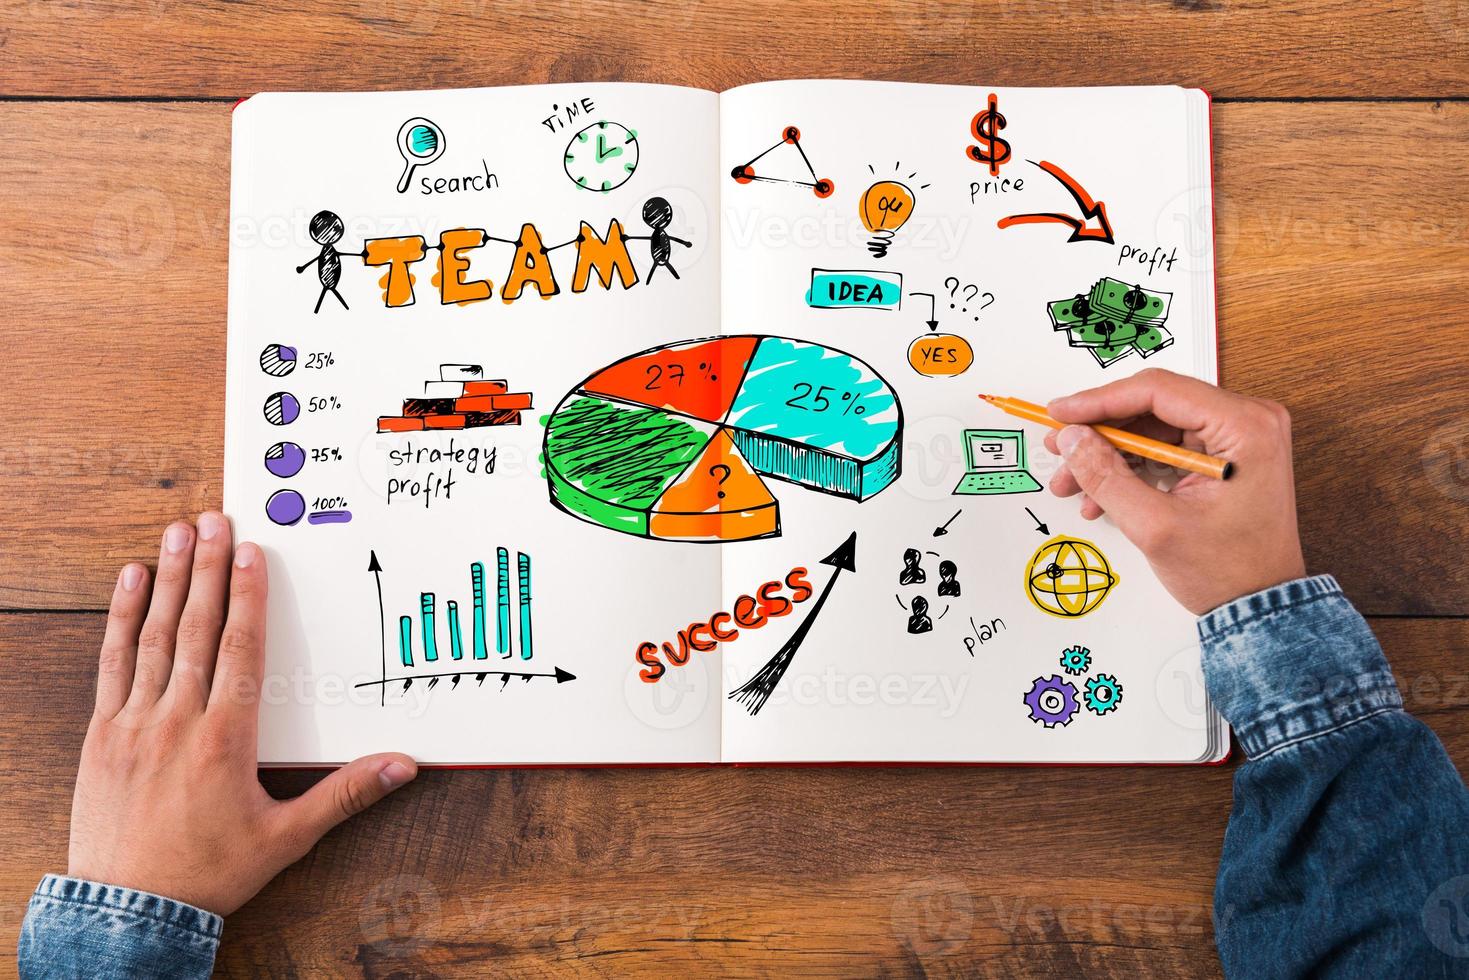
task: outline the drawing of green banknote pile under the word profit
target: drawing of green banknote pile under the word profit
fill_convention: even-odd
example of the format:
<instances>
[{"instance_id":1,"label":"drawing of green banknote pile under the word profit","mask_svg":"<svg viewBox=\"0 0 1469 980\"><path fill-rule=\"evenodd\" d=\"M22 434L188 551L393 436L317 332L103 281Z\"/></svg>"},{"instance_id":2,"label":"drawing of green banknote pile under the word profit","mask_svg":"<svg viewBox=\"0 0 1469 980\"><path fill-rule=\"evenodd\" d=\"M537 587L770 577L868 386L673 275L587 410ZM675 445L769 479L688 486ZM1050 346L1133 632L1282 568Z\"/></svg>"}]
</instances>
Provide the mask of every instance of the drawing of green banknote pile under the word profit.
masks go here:
<instances>
[{"instance_id":1,"label":"drawing of green banknote pile under the word profit","mask_svg":"<svg viewBox=\"0 0 1469 980\"><path fill-rule=\"evenodd\" d=\"M1163 329L1172 292L1144 289L1119 279L1097 279L1086 295L1046 304L1053 329L1065 331L1072 347L1086 347L1106 367L1134 350L1152 357L1174 342Z\"/></svg>"}]
</instances>

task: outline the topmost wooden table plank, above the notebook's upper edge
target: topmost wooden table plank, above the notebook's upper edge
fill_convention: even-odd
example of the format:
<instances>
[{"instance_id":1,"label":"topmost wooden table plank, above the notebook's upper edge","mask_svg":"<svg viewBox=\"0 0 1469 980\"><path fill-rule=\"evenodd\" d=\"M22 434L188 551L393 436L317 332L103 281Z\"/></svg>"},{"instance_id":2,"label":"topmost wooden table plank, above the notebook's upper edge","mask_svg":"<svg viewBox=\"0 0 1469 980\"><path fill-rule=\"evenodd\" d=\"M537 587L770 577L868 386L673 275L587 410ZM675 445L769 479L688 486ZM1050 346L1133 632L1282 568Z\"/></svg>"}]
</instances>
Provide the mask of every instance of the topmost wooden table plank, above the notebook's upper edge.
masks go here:
<instances>
[{"instance_id":1,"label":"topmost wooden table plank, above the notebook's upper edge","mask_svg":"<svg viewBox=\"0 0 1469 980\"><path fill-rule=\"evenodd\" d=\"M623 79L1166 81L1218 97L1469 94L1460 0L9 0L0 96L239 97ZM88 38L93 43L78 43Z\"/></svg>"}]
</instances>

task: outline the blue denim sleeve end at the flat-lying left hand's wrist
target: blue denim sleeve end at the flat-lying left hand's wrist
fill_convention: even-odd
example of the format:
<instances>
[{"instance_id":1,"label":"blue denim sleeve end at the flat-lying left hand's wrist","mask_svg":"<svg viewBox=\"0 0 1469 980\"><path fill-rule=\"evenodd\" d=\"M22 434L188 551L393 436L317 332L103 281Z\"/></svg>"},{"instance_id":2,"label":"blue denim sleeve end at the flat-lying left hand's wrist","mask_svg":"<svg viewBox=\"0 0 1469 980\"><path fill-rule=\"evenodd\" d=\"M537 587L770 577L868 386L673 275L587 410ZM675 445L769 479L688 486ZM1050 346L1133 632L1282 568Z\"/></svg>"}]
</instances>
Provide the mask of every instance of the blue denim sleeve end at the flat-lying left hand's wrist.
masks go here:
<instances>
[{"instance_id":1,"label":"blue denim sleeve end at the flat-lying left hand's wrist","mask_svg":"<svg viewBox=\"0 0 1469 980\"><path fill-rule=\"evenodd\" d=\"M47 874L21 924L21 977L209 977L223 924L162 895Z\"/></svg>"}]
</instances>

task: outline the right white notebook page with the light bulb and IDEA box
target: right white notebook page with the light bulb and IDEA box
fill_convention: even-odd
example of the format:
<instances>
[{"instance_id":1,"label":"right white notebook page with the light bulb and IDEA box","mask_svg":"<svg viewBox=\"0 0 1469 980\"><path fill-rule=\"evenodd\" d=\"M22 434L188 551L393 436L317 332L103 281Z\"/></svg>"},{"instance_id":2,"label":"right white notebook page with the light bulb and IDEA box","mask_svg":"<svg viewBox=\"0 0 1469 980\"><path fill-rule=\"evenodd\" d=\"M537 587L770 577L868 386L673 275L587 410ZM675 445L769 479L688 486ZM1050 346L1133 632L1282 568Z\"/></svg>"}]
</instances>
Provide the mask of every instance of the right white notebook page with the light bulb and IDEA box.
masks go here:
<instances>
[{"instance_id":1,"label":"right white notebook page with the light bulb and IDEA box","mask_svg":"<svg viewBox=\"0 0 1469 980\"><path fill-rule=\"evenodd\" d=\"M805 414L787 411L777 425L805 441L801 426L820 432L820 419L862 406L878 417L881 406L871 398L884 391L902 406L902 473L892 485L862 502L779 485L782 535L724 548L730 608L739 592L792 567L809 569L820 595L833 570L818 561L851 532L858 535L856 570L833 585L768 702L758 714L726 702L726 761L1197 761L1228 745L1205 707L1194 617L1115 526L1087 523L1075 500L1040 491L1056 469L1042 445L1044 430L975 397L1046 403L1144 366L1213 379L1205 97L1180 88L993 90L1006 125L996 131L993 116L983 123L984 151L1000 150L989 138L999 135L1011 159L992 178L987 163L968 156L981 143L971 125L989 112L990 93L812 81L721 97L726 334L824 345L859 359L881 379L865 369L843 375L829 360L806 378L831 385L824 407L812 404L814 392L802 391L802 376L792 373L784 383ZM1124 138L1099 143L1086 135L1099 119L1114 131L1125 119L1130 132L1153 135L1146 150L1130 150ZM787 126L799 129L798 143L782 143ZM1074 229L1056 220L997 226L1024 213L1080 216L1064 179L1042 163L1105 204L1115 242L1068 241ZM817 192L826 184L812 187L817 178L834 185L829 195ZM986 194L986 179L1011 184ZM876 257L870 242L886 235L868 231L859 210L864 191L886 181L902 184L915 203L886 256ZM877 216L883 231L884 215ZM1094 220L1087 226L1099 228ZM1162 259L1149 267L1128 257L1134 250ZM1103 369L1087 348L1069 344L1068 332L1053 331L1047 303L1089 294L1103 276L1171 292L1166 329L1174 344L1146 360L1134 347ZM868 289L862 303L853 287L871 281L890 285L877 301ZM852 306L814 309L833 297L840 304L843 284ZM808 298L808 289L815 295ZM933 307L924 292L936 297ZM964 373L927 376L911 364L909 345L931 339L930 317L939 334L972 348ZM949 347L962 357L961 342L940 344ZM861 426L855 429L859 442ZM974 469L1022 464L1037 482L1034 492L958 494L971 472L971 439ZM1047 532L1037 530L1040 522ZM942 536L937 527L945 527ZM1077 580L1103 594L1091 605L1084 594L1068 598L1084 610L1080 616L1047 614L1028 598L1030 563L1053 538L1086 544L1056 544L1040 572L1055 564L1062 591ZM908 572L909 548L920 552L923 582ZM1108 570L1081 567L1096 554ZM953 576L942 574L943 561L956 566ZM946 577L958 583L956 595ZM1043 574L1040 585L1049 580ZM925 614L915 607L920 598ZM726 692L757 677L815 614L814 605L808 599L724 644ZM1075 654L1077 666L1086 663L1077 674L1061 664L1072 648L1089 651ZM1093 698L1103 711L1094 713L1086 692L1099 677ZM1036 695L1042 721L1025 704L1037 680L1046 682ZM1122 696L1106 710L1109 680Z\"/></svg>"}]
</instances>

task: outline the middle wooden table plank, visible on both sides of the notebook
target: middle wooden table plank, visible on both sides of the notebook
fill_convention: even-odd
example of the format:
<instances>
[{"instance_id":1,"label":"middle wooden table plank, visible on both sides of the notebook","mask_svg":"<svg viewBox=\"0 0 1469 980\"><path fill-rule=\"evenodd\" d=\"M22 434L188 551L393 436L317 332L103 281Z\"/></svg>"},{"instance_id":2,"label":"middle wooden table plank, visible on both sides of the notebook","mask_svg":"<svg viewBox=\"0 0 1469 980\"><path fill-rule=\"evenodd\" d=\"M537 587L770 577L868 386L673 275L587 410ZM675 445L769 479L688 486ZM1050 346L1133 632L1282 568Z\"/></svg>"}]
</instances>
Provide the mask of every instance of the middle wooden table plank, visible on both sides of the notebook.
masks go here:
<instances>
[{"instance_id":1,"label":"middle wooden table plank, visible on both sides of the notebook","mask_svg":"<svg viewBox=\"0 0 1469 980\"><path fill-rule=\"evenodd\" d=\"M229 109L0 103L0 607L100 608L220 501ZM1312 569L1469 613L1469 104L1227 104L1213 140L1222 378L1294 413Z\"/></svg>"}]
</instances>

